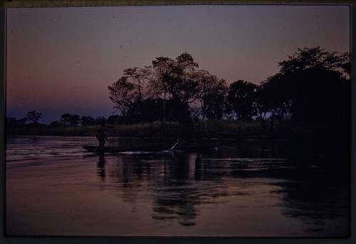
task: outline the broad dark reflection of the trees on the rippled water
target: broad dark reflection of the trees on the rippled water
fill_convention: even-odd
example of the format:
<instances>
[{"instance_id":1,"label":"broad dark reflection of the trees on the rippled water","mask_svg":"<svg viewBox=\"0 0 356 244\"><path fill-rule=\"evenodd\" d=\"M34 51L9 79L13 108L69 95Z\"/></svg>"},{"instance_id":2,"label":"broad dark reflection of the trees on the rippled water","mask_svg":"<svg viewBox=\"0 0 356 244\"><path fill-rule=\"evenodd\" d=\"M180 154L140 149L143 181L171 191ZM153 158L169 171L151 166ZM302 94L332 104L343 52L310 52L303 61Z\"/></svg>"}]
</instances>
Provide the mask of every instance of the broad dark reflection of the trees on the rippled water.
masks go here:
<instances>
[{"instance_id":1,"label":"broad dark reflection of the trees on the rippled water","mask_svg":"<svg viewBox=\"0 0 356 244\"><path fill-rule=\"evenodd\" d=\"M253 152L221 150L209 155L189 153L172 158L116 156L110 157L110 167L106 169L107 160L100 155L98 175L104 179L108 170L125 201L151 199L152 218L157 221L197 225L199 206L229 202L229 196L244 198L246 207L249 201L261 198L268 207L271 203L256 194L256 189L270 187L273 190L267 191L268 197L278 196L282 214L305 223L305 231L323 231L325 221L333 218L345 220L340 223L345 228L348 214L345 172L330 174L320 162L278 158L278 150L273 147L263 144L253 148ZM251 154L258 157L252 158Z\"/></svg>"}]
</instances>

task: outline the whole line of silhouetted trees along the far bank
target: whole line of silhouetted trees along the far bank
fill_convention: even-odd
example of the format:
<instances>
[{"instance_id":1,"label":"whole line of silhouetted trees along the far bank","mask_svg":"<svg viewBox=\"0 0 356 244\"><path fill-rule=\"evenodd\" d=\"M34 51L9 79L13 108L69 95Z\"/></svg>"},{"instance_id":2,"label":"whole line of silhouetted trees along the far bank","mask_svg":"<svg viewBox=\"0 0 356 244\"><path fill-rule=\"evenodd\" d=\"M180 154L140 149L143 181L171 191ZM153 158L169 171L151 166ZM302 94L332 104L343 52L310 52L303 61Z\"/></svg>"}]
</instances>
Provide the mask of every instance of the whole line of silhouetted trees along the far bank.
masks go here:
<instances>
[{"instance_id":1,"label":"whole line of silhouetted trees along the far bank","mask_svg":"<svg viewBox=\"0 0 356 244\"><path fill-rule=\"evenodd\" d=\"M192 126L208 120L264 121L345 126L350 116L350 55L323 48L298 49L278 63L261 84L226 80L199 70L192 55L156 57L133 67L109 87L117 115L93 118L64 113L49 126L95 126L177 121ZM42 113L7 118L8 126L39 126Z\"/></svg>"}]
</instances>

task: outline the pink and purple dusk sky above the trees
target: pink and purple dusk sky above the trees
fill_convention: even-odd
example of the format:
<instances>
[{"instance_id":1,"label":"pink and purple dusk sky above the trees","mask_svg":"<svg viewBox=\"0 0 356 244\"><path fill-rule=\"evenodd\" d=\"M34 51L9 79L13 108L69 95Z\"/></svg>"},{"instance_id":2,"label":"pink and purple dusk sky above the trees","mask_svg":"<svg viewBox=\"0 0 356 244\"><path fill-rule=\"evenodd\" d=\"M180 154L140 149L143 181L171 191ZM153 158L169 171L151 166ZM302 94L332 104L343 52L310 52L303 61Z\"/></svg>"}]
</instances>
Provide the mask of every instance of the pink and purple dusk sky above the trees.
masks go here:
<instances>
[{"instance_id":1,"label":"pink and purple dusk sky above the trees","mask_svg":"<svg viewBox=\"0 0 356 244\"><path fill-rule=\"evenodd\" d=\"M110 116L108 85L159 56L189 52L229 83L259 84L297 48L349 44L347 6L8 9L7 116Z\"/></svg>"}]
</instances>

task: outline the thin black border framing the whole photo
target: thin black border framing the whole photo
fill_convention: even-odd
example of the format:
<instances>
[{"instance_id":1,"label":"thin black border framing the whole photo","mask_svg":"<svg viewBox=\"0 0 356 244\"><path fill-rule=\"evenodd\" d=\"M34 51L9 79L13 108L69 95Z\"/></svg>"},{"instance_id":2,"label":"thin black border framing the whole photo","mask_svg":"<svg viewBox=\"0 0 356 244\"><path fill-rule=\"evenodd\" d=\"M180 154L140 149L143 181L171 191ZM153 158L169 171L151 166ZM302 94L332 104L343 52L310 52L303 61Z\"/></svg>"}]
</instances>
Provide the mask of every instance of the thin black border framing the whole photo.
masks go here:
<instances>
[{"instance_id":1,"label":"thin black border framing the whole photo","mask_svg":"<svg viewBox=\"0 0 356 244\"><path fill-rule=\"evenodd\" d=\"M159 6L159 5L234 5L234 4L278 4L278 5L348 5L350 6L350 54L352 67L356 67L356 3L352 1L179 1L179 0L117 0L117 1L1 1L0 9L0 243L356 243L355 225L355 170L356 170L356 69L351 70L351 170L350 170L350 237L349 238L242 238L242 237L78 237L78 236L43 236L43 237L9 237L5 233L5 198L6 198L6 9L7 8L31 8L31 7L84 7L84 6Z\"/></svg>"}]
</instances>

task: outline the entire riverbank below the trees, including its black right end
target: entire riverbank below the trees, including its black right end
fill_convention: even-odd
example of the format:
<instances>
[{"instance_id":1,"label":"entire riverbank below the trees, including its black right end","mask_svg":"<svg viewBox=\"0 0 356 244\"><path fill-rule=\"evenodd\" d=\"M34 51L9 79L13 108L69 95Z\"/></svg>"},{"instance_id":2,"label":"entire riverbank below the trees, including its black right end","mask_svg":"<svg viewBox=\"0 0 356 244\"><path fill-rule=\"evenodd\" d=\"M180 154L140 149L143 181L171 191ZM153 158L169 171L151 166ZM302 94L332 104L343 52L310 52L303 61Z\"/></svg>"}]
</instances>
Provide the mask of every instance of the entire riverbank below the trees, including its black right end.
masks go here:
<instances>
[{"instance_id":1,"label":"entire riverbank below the trees, including its black right end","mask_svg":"<svg viewBox=\"0 0 356 244\"><path fill-rule=\"evenodd\" d=\"M275 126L276 125L276 126ZM7 138L26 136L70 136L70 137L95 137L100 126L22 126L6 128ZM137 138L161 140L162 148L170 148L181 138L184 145L196 147L206 141L265 140L283 141L283 150L292 159L324 160L325 164L333 167L350 167L350 138L347 138L347 128L336 128L330 125L308 125L300 123L261 123L261 121L207 121L206 127L202 123L195 123L194 130L187 133L179 123L144 123L134 125L109 126L109 138ZM344 131L342 131L344 130ZM185 138L184 138L185 136ZM214 144L214 145L215 145ZM128 145L130 147L130 145ZM147 145L142 145L143 148ZM260 149L261 152L265 150ZM300 154L300 152L304 152ZM327 160L326 160L327 159Z\"/></svg>"}]
</instances>

